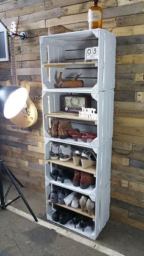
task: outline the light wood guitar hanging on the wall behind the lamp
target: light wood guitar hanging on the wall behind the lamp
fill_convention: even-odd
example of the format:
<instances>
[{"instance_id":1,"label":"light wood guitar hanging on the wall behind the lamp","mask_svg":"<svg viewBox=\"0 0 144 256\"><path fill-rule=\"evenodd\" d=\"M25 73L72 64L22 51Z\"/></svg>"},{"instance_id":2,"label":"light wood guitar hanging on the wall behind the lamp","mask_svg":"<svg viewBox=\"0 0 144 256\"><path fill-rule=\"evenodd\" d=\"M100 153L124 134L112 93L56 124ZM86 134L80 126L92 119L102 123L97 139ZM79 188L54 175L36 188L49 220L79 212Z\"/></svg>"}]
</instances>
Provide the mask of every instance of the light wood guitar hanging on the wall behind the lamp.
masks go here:
<instances>
[{"instance_id":1,"label":"light wood guitar hanging on the wall behind the lamp","mask_svg":"<svg viewBox=\"0 0 144 256\"><path fill-rule=\"evenodd\" d=\"M18 21L12 21L10 28L10 43L11 43L11 62L12 62L12 81L7 81L6 86L21 86L27 89L29 95L29 82L23 81L19 82L16 75L16 60L15 60L15 35L17 34L18 29ZM37 122L37 109L35 108L35 104L28 97L26 101L26 106L21 109L20 113L10 119L10 121L19 127L29 127L34 125Z\"/></svg>"}]
</instances>

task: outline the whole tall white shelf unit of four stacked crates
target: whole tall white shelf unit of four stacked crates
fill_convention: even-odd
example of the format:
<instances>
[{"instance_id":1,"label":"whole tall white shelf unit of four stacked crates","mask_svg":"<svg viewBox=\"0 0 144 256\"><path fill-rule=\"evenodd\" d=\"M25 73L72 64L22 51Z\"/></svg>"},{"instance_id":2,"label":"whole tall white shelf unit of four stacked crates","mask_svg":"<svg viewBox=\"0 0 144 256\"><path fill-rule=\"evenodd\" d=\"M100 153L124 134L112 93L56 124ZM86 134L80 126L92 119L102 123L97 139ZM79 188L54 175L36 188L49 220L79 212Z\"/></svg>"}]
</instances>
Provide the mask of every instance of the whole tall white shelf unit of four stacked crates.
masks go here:
<instances>
[{"instance_id":1,"label":"whole tall white shelf unit of four stacked crates","mask_svg":"<svg viewBox=\"0 0 144 256\"><path fill-rule=\"evenodd\" d=\"M46 180L46 213L52 221L52 214L59 208L68 208L76 213L82 213L81 208L74 209L70 206L51 203L49 194L53 188L66 188L90 197L95 202L95 213L89 216L93 219L93 225L87 227L84 232L71 221L64 227L74 230L81 235L95 240L109 219L110 205L110 166L112 152L113 133L113 89L115 87L115 35L103 29L89 31L69 32L40 37L41 51L41 76L43 85L43 126L45 136L45 180ZM85 48L98 46L98 59L93 62L85 62ZM55 88L59 73L63 79L73 79L81 74L79 79L84 81L82 88ZM77 114L62 111L63 95L90 95L92 107L96 108L98 118L96 120L80 119ZM79 128L81 132L96 133L93 141L82 142L81 138L74 141L72 138L55 139L49 135L51 120L55 118L71 119L73 128ZM49 158L51 142L70 144L71 147L85 148L95 153L96 166L83 169L81 165L74 166L73 159L62 162L59 159ZM51 177L52 169L67 167L70 170L80 170L93 174L96 185L88 189L74 187L73 181L65 179L64 183L54 181ZM56 222L59 224L59 222ZM61 224L60 224L61 225Z\"/></svg>"}]
</instances>

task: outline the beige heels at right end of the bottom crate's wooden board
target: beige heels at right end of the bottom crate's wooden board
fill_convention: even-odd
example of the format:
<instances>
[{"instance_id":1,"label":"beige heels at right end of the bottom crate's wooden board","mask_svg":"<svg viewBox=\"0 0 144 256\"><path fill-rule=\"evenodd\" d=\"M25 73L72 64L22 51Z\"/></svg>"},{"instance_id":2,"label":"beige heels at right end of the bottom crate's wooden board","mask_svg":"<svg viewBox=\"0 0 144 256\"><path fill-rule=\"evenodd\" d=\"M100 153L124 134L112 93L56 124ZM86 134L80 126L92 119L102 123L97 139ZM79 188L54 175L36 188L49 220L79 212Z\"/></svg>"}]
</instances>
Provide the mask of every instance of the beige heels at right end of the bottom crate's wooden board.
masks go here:
<instances>
[{"instance_id":1,"label":"beige heels at right end of the bottom crate's wooden board","mask_svg":"<svg viewBox=\"0 0 144 256\"><path fill-rule=\"evenodd\" d=\"M95 202L92 200L88 199L85 196L82 196L81 199L79 200L79 204L81 206L81 211L88 211L88 215L91 216L93 214L93 211L95 209Z\"/></svg>"}]
</instances>

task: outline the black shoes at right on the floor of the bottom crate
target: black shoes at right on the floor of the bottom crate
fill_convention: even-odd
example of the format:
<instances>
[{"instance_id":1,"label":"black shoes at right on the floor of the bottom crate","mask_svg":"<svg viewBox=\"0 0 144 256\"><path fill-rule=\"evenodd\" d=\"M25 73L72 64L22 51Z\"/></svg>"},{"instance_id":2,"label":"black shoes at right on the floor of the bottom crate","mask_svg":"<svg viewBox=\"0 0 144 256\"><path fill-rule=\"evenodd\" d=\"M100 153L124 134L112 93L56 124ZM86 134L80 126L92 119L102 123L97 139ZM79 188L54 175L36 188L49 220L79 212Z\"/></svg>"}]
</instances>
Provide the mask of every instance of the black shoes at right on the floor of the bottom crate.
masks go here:
<instances>
[{"instance_id":1,"label":"black shoes at right on the floor of the bottom crate","mask_svg":"<svg viewBox=\"0 0 144 256\"><path fill-rule=\"evenodd\" d=\"M84 217L82 215L77 214L74 216L74 218L71 220L72 224L74 225L74 229L76 229L76 225L79 224L79 227L81 227L82 232L84 232L84 229L87 226L91 226L93 224L93 220L87 217Z\"/></svg>"}]
</instances>

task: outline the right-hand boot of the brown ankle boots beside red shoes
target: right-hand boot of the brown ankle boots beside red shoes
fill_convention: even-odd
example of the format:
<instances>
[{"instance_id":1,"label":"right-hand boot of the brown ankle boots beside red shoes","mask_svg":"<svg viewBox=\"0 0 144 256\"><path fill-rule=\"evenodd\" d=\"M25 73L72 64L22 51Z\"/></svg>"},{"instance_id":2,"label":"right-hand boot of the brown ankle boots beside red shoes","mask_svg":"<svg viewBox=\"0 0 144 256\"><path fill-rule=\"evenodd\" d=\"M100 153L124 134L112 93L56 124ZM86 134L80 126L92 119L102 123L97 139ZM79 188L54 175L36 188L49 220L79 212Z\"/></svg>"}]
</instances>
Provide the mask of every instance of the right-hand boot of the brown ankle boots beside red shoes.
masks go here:
<instances>
[{"instance_id":1,"label":"right-hand boot of the brown ankle boots beside red shoes","mask_svg":"<svg viewBox=\"0 0 144 256\"><path fill-rule=\"evenodd\" d=\"M62 119L59 120L58 134L60 139L68 138L68 131L79 133L79 129L73 129L71 126L71 120Z\"/></svg>"}]
</instances>

